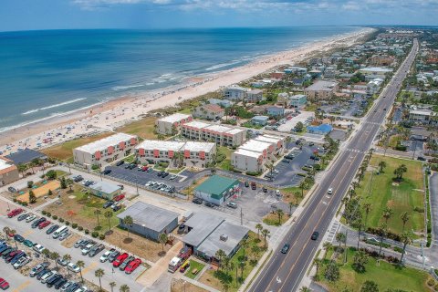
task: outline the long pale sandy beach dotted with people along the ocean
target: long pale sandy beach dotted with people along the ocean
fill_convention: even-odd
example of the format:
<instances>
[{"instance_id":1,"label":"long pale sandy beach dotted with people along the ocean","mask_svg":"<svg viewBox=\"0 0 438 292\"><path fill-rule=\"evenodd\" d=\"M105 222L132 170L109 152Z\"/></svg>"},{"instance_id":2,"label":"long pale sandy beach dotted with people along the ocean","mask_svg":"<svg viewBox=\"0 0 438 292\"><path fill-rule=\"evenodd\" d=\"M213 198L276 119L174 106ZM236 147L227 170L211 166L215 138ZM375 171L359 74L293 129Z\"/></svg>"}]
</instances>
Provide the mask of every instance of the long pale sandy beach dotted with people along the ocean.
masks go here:
<instances>
[{"instance_id":1,"label":"long pale sandy beach dotted with people along the ocean","mask_svg":"<svg viewBox=\"0 0 438 292\"><path fill-rule=\"evenodd\" d=\"M328 51L334 47L349 47L372 31L371 28L364 28L355 33L331 37L275 55L260 57L239 68L189 78L186 83L179 86L112 99L86 110L77 110L0 132L0 151L3 155L7 155L24 148L40 149L71 140L79 135L114 130L132 120L138 120L150 110L173 106L184 99L193 99L238 83L276 66L297 64L317 52Z\"/></svg>"}]
</instances>

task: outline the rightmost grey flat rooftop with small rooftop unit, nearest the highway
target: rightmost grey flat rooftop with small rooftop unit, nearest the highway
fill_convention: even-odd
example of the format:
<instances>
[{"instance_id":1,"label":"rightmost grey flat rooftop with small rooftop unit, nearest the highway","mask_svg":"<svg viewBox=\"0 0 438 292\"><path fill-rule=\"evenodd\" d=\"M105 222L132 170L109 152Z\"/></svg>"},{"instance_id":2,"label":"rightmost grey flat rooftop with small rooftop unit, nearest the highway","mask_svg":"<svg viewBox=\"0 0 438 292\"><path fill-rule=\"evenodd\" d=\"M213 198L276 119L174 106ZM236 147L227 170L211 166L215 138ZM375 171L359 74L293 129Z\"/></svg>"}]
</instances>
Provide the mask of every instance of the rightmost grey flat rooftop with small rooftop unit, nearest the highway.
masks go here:
<instances>
[{"instance_id":1,"label":"rightmost grey flat rooftop with small rooftop unit, nearest the highway","mask_svg":"<svg viewBox=\"0 0 438 292\"><path fill-rule=\"evenodd\" d=\"M208 256L214 256L219 249L222 249L226 255L230 255L248 232L249 229L244 226L224 221L198 246L198 251ZM221 239L221 236L224 240Z\"/></svg>"}]
</instances>

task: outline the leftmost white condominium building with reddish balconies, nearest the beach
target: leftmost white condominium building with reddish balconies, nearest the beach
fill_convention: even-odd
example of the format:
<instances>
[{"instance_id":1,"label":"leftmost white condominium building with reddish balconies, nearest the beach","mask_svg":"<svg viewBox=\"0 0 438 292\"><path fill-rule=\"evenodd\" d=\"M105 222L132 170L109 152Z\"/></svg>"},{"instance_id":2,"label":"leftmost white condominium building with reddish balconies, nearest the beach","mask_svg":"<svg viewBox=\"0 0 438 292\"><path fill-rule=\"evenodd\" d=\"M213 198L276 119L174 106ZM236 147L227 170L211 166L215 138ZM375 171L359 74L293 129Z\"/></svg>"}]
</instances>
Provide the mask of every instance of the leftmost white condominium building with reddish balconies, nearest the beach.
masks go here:
<instances>
[{"instance_id":1,"label":"leftmost white condominium building with reddish balconies, nearest the beach","mask_svg":"<svg viewBox=\"0 0 438 292\"><path fill-rule=\"evenodd\" d=\"M132 149L138 143L137 136L117 133L75 148L73 150L73 159L76 164L86 168L92 165L102 167L130 155Z\"/></svg>"}]
</instances>

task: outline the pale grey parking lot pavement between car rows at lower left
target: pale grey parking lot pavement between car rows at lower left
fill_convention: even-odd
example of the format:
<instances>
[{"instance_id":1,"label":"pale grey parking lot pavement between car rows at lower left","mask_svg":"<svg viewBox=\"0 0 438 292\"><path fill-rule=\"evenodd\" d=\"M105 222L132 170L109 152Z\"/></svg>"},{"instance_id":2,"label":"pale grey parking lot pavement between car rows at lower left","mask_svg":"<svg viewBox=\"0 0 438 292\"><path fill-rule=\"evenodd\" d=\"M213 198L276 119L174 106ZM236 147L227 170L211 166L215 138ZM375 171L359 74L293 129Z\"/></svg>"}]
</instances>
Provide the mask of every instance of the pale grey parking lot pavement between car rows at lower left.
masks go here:
<instances>
[{"instance_id":1,"label":"pale grey parking lot pavement between car rows at lower left","mask_svg":"<svg viewBox=\"0 0 438 292\"><path fill-rule=\"evenodd\" d=\"M5 205L4 201L0 201L1 205ZM11 205L11 208L13 206ZM2 214L5 214L2 212ZM40 216L38 216L40 217ZM35 219L36 220L36 219ZM94 276L94 271L98 268L102 268L104 270L105 275L102 277L102 287L107 290L110 290L109 283L115 281L118 285L127 284L130 287L130 291L141 291L141 286L135 283L135 278L141 274L141 272L145 269L145 267L141 266L131 275L126 275L123 271L119 269L112 268L109 263L100 263L99 257L104 253L104 251L100 252L98 255L94 257L89 257L88 255L81 255L81 251L78 248L68 248L62 245L63 242L58 239L54 239L52 235L47 235L47 228L50 227L49 224L44 229L32 228L30 223L26 223L26 220L17 221L17 216L13 218L7 218L7 216L0 216L0 224L2 226L9 226L12 229L16 230L16 234L22 235L27 240L32 241L34 244L39 244L47 247L51 252L57 252L58 255L71 255L71 263L77 263L78 260L81 260L85 263L84 268L82 269L82 275L84 278L95 285L99 285L99 280ZM10 244L13 244L10 242ZM26 247L23 244L17 243L18 249L27 249L29 251L28 255L31 255L34 259L36 259L36 252L32 251L30 248ZM39 255L42 257L42 255ZM32 267L35 266L36 260L27 264L27 266ZM55 264L52 262L52 267L55 267ZM8 265L10 266L10 265ZM59 266L59 265L58 265ZM13 291L48 291L49 289L43 284L39 283L36 278L31 278L26 276L25 281L23 280L23 276L16 270L11 267L11 271L9 273L9 268L7 269L7 276L5 275L6 280L9 281L11 289ZM3 270L3 269L2 269ZM60 268L61 274L68 275L68 272L65 268ZM71 272L70 272L71 274ZM73 273L74 274L74 273ZM26 274L28 275L28 274ZM78 275L76 276L78 278ZM52 287L53 289L53 287ZM55 289L54 289L55 290Z\"/></svg>"}]
</instances>

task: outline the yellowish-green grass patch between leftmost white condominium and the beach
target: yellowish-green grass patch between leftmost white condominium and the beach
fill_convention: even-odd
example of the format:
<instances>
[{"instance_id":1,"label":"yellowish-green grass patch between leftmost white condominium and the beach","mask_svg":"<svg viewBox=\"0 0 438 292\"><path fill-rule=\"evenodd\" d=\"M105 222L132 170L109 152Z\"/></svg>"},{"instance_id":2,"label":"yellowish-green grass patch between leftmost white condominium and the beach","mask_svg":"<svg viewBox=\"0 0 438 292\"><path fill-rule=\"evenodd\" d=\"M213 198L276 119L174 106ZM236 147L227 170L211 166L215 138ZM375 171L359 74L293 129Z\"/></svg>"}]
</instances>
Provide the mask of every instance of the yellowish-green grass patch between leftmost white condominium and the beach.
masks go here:
<instances>
[{"instance_id":1,"label":"yellowish-green grass patch between leftmost white condominium and the beach","mask_svg":"<svg viewBox=\"0 0 438 292\"><path fill-rule=\"evenodd\" d=\"M47 156L56 158L60 161L73 163L73 149L94 141L98 141L110 135L113 135L113 133L108 132L92 137L70 140L62 144L49 147L47 149L43 149L42 152L45 153Z\"/></svg>"}]
</instances>

